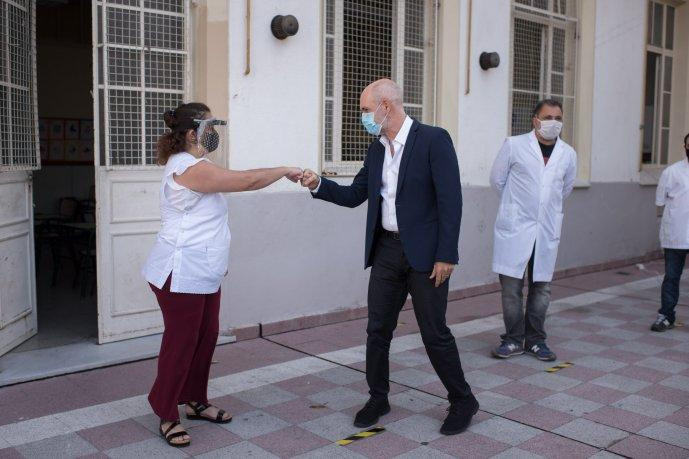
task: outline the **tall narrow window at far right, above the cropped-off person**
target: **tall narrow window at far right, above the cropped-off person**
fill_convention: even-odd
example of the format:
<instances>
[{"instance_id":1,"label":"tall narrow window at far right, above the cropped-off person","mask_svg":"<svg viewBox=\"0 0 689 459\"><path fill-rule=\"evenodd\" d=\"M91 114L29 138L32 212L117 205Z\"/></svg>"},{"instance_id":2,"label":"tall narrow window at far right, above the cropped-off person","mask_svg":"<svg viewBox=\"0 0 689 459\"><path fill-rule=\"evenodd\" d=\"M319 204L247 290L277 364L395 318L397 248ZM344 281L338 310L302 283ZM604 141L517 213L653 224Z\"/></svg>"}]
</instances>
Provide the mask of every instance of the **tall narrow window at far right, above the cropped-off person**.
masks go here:
<instances>
[{"instance_id":1,"label":"tall narrow window at far right, above the cropped-off person","mask_svg":"<svg viewBox=\"0 0 689 459\"><path fill-rule=\"evenodd\" d=\"M668 163L670 145L670 100L675 42L675 8L648 2L646 39L646 88L641 162Z\"/></svg>"}]
</instances>

